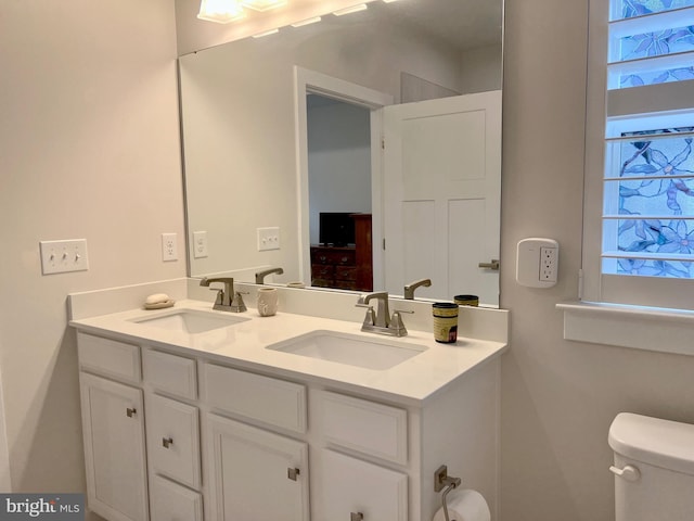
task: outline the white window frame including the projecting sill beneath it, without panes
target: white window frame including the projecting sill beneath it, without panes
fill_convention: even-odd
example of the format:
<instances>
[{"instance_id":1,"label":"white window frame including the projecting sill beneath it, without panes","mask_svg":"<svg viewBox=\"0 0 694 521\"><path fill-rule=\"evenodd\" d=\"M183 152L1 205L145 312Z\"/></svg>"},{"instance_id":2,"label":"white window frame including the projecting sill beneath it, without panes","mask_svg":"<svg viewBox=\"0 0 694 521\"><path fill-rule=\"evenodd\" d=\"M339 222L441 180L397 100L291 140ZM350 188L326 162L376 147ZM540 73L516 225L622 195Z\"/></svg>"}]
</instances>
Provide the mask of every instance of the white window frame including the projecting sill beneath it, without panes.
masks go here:
<instances>
[{"instance_id":1,"label":"white window frame including the projecting sill beneath it, without panes","mask_svg":"<svg viewBox=\"0 0 694 521\"><path fill-rule=\"evenodd\" d=\"M628 115L634 106L677 111L694 99L694 81L608 91L609 15L609 0L589 0L582 258L578 302L556 306L564 314L564 339L694 355L694 279L602 274L607 116Z\"/></svg>"}]
</instances>

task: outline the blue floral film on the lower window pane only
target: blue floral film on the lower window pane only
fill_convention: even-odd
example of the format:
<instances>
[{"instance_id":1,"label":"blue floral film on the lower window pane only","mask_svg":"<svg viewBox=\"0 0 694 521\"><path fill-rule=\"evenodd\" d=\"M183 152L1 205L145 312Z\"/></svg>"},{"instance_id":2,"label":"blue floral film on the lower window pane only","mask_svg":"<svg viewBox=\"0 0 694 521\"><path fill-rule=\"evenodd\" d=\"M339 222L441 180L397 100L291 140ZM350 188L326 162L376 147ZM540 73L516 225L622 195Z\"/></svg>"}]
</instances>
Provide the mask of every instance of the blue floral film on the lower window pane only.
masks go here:
<instances>
[{"instance_id":1,"label":"blue floral film on the lower window pane only","mask_svg":"<svg viewBox=\"0 0 694 521\"><path fill-rule=\"evenodd\" d=\"M603 270L694 276L693 136L694 127L669 128L607 144L604 253L613 260Z\"/></svg>"}]
</instances>

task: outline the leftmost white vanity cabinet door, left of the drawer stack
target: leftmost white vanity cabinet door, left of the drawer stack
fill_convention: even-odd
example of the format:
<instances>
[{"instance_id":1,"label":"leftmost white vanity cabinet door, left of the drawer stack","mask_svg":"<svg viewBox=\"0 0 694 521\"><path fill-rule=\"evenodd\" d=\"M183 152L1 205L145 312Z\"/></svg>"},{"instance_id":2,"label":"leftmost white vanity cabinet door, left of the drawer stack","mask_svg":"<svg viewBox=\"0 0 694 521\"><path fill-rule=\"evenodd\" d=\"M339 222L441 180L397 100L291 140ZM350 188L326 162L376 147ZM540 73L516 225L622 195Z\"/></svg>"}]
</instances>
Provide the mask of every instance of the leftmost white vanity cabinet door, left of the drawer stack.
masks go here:
<instances>
[{"instance_id":1,"label":"leftmost white vanity cabinet door, left of the drawer stack","mask_svg":"<svg viewBox=\"0 0 694 521\"><path fill-rule=\"evenodd\" d=\"M87 494L110 521L147 521L142 391L80 373Z\"/></svg>"}]
</instances>

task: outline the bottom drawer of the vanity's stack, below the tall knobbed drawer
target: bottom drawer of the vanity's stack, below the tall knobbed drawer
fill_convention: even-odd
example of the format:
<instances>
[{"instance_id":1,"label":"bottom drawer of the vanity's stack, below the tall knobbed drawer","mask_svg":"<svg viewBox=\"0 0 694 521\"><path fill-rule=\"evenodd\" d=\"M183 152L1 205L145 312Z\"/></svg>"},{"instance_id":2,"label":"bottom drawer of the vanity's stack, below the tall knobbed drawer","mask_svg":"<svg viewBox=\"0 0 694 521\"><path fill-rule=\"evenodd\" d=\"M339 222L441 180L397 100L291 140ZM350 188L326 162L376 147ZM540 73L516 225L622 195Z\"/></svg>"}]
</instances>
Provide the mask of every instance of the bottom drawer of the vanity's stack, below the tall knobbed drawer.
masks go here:
<instances>
[{"instance_id":1,"label":"bottom drawer of the vanity's stack, below the tall knobbed drawer","mask_svg":"<svg viewBox=\"0 0 694 521\"><path fill-rule=\"evenodd\" d=\"M203 498L172 481L155 475L150 485L152 521L203 521Z\"/></svg>"}]
</instances>

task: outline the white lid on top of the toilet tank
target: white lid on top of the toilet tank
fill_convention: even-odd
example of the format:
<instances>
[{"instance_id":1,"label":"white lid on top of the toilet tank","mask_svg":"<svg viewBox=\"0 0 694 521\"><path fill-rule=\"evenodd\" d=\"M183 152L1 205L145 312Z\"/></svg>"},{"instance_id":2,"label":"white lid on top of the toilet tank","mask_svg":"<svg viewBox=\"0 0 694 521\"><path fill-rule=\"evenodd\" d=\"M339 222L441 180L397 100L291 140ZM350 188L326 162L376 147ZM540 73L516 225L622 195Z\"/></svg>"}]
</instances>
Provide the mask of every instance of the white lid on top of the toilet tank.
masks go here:
<instances>
[{"instance_id":1,"label":"white lid on top of the toilet tank","mask_svg":"<svg viewBox=\"0 0 694 521\"><path fill-rule=\"evenodd\" d=\"M608 441L627 458L694 475L694 425L620 412Z\"/></svg>"}]
</instances>

